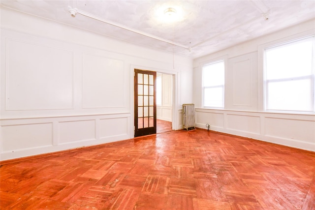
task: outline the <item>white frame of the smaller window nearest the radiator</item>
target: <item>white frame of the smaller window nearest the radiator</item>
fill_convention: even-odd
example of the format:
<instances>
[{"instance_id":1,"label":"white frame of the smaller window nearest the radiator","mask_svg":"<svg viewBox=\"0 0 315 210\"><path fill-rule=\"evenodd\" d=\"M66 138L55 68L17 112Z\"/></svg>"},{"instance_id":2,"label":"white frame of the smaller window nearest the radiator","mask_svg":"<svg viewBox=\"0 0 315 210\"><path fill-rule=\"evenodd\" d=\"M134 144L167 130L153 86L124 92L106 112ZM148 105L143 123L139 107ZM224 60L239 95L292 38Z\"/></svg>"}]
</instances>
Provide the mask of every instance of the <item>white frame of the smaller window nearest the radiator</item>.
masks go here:
<instances>
[{"instance_id":1,"label":"white frame of the smaller window nearest the radiator","mask_svg":"<svg viewBox=\"0 0 315 210\"><path fill-rule=\"evenodd\" d=\"M224 83L223 85L216 85L216 86L207 86L205 87L204 86L204 67L207 66L207 65L211 65L211 64L215 64L215 63L219 63L219 62L223 62L224 64ZM208 109L224 109L225 108L225 80L226 80L226 57L224 58L218 58L218 59L215 59L215 60L211 60L211 61L208 61L208 62L205 62L202 64L202 67L201 67L201 89L202 89L202 107L203 108L208 108ZM216 88L216 87L222 87L222 106L218 107L218 106L205 106L204 104L204 99L205 99L205 88Z\"/></svg>"}]
</instances>

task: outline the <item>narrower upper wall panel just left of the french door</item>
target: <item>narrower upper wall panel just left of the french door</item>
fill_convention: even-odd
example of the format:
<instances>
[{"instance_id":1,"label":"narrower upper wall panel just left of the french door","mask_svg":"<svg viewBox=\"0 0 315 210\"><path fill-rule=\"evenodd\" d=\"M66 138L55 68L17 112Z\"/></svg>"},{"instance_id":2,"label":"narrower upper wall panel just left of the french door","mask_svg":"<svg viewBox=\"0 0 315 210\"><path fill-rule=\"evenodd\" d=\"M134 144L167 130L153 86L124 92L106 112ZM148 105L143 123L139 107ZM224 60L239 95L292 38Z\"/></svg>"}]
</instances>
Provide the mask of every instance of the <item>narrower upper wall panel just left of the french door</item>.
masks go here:
<instances>
[{"instance_id":1,"label":"narrower upper wall panel just left of the french door","mask_svg":"<svg viewBox=\"0 0 315 210\"><path fill-rule=\"evenodd\" d=\"M84 109L124 107L126 87L124 61L87 53L83 53L82 56L82 107Z\"/></svg>"}]
</instances>

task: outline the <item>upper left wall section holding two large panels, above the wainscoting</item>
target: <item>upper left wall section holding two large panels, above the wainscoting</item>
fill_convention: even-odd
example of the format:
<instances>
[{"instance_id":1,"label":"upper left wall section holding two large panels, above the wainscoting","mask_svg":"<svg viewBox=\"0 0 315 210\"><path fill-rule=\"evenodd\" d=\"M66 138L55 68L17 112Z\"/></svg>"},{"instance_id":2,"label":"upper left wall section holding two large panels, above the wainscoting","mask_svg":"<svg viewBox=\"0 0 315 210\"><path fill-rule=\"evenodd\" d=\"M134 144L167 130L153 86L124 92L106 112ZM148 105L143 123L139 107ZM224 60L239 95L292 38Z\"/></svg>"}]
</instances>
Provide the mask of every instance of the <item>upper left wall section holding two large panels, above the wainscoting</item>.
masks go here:
<instances>
[{"instance_id":1,"label":"upper left wall section holding two large panels, above the wainscoting","mask_svg":"<svg viewBox=\"0 0 315 210\"><path fill-rule=\"evenodd\" d=\"M114 72L113 75L108 73L109 68L105 69L106 78L99 82L105 85L100 88L91 88L85 83L91 91L84 97L83 55L106 61L105 64ZM20 58L26 65L20 62ZM131 75L126 62L132 57L93 46L1 29L1 60L2 119L130 112L128 78ZM110 65L115 62L121 65ZM95 65L99 67L100 64ZM117 91L103 90L104 87Z\"/></svg>"}]
</instances>

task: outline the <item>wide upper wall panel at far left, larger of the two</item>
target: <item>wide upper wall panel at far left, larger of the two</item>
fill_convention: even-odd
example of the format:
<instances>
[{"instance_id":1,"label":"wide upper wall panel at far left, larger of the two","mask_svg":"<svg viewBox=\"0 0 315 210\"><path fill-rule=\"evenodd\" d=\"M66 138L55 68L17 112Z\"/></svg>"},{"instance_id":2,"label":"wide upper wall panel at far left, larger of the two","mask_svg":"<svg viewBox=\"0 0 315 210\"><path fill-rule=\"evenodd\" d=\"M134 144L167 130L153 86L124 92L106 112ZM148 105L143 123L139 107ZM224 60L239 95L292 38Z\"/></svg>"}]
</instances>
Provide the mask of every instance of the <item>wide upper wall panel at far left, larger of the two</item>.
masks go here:
<instances>
[{"instance_id":1,"label":"wide upper wall panel at far left, larger of the two","mask_svg":"<svg viewBox=\"0 0 315 210\"><path fill-rule=\"evenodd\" d=\"M74 52L6 39L5 110L73 109Z\"/></svg>"}]
</instances>

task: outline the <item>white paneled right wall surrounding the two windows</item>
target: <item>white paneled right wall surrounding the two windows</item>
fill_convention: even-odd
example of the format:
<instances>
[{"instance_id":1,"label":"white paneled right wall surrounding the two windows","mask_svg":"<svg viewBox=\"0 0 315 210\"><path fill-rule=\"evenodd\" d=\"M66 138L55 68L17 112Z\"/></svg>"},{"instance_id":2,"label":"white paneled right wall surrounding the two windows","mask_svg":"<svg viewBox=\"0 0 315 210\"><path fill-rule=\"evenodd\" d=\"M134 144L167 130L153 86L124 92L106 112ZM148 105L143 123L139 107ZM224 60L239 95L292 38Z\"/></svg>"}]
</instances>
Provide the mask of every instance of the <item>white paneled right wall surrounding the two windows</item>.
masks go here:
<instances>
[{"instance_id":1,"label":"white paneled right wall surrounding the two windows","mask_svg":"<svg viewBox=\"0 0 315 210\"><path fill-rule=\"evenodd\" d=\"M314 113L267 113L263 108L262 53L269 43L315 33L315 20L195 59L193 102L196 126L315 151ZM225 58L225 108L202 107L202 65Z\"/></svg>"}]
</instances>

